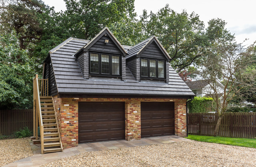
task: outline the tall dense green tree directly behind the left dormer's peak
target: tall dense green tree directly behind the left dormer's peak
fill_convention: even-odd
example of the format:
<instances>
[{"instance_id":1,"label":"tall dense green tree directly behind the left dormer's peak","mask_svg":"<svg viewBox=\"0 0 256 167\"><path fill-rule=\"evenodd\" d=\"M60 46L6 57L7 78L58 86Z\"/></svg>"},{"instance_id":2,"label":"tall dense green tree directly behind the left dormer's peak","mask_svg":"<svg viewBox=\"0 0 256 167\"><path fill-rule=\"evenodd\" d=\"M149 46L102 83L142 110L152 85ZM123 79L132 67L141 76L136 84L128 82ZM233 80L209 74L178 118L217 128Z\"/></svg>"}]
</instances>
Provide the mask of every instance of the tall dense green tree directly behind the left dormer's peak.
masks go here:
<instances>
[{"instance_id":1,"label":"tall dense green tree directly behind the left dormer's peak","mask_svg":"<svg viewBox=\"0 0 256 167\"><path fill-rule=\"evenodd\" d=\"M121 18L134 18L134 0L64 0L61 24L68 34L85 40Z\"/></svg>"}]
</instances>

